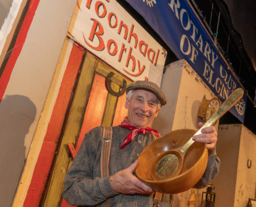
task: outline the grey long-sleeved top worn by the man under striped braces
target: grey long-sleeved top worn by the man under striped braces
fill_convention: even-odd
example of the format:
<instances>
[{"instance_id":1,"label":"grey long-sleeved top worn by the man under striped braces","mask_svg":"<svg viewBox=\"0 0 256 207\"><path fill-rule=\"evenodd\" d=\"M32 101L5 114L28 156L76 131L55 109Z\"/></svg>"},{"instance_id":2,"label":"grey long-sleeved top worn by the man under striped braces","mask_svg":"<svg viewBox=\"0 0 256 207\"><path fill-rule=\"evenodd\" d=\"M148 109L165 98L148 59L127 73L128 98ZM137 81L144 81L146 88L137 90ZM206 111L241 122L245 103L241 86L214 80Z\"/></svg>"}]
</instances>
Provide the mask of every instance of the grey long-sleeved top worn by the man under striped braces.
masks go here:
<instances>
[{"instance_id":1,"label":"grey long-sleeved top worn by the man under striped braces","mask_svg":"<svg viewBox=\"0 0 256 207\"><path fill-rule=\"evenodd\" d=\"M112 148L110 156L110 175L129 167L140 155L141 151L154 141L151 133L138 134L124 149L120 149L122 141L130 133L120 126L113 127ZM77 152L65 180L63 198L71 205L93 206L104 202L109 198L110 206L152 206L152 196L149 194L124 195L116 193L110 185L110 177L101 178L100 154L101 154L102 127L96 127L89 131L83 139L80 150ZM196 188L204 188L218 174L219 159L215 150L209 151L208 165L203 178L196 184ZM163 195L160 206L170 206L172 196Z\"/></svg>"}]
</instances>

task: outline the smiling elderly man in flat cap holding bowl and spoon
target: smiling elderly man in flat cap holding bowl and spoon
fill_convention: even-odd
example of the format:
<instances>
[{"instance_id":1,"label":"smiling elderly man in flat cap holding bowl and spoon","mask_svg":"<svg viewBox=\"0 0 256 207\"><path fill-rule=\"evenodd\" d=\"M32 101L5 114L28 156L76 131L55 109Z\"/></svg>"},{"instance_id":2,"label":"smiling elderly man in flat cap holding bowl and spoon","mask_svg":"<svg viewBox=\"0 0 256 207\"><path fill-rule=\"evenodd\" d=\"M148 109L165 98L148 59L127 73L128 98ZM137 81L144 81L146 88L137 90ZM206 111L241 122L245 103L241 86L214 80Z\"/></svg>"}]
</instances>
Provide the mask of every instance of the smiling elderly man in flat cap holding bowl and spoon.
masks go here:
<instances>
[{"instance_id":1,"label":"smiling elderly man in flat cap holding bowl and spoon","mask_svg":"<svg viewBox=\"0 0 256 207\"><path fill-rule=\"evenodd\" d=\"M112 127L109 176L101 176L103 127L85 135L80 150L66 174L63 197L71 205L153 206L154 190L136 178L134 170L141 151L159 136L151 123L165 105L163 91L150 81L135 81L127 87L125 107L128 115L119 126ZM216 157L216 131L213 126L201 130L193 139L205 142L209 149L208 165L196 188L203 188L219 170ZM160 206L170 206L171 195L163 195Z\"/></svg>"}]
</instances>

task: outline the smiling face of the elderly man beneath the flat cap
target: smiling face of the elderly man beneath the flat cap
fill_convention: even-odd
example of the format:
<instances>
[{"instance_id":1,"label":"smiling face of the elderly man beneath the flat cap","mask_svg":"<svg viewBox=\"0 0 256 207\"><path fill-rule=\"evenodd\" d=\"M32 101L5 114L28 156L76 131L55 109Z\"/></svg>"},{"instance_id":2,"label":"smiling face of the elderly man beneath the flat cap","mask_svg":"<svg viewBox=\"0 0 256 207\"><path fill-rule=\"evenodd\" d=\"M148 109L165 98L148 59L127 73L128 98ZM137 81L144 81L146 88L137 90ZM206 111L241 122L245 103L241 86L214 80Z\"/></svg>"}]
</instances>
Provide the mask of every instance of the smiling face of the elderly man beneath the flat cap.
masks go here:
<instances>
[{"instance_id":1,"label":"smiling face of the elderly man beneath the flat cap","mask_svg":"<svg viewBox=\"0 0 256 207\"><path fill-rule=\"evenodd\" d=\"M140 89L134 91L130 101L126 98L125 107L128 120L138 128L150 127L159 111L155 94Z\"/></svg>"}]
</instances>

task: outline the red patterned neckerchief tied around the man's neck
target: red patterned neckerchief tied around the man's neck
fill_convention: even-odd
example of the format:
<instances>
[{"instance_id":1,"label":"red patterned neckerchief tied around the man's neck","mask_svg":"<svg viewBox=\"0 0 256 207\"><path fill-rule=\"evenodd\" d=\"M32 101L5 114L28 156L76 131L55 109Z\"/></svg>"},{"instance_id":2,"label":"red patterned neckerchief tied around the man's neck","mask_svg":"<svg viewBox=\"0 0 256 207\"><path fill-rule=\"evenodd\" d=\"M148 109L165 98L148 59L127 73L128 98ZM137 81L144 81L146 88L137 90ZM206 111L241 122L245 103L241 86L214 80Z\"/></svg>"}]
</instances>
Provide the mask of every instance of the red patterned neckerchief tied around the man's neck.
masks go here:
<instances>
[{"instance_id":1,"label":"red patterned neckerchief tied around the man's neck","mask_svg":"<svg viewBox=\"0 0 256 207\"><path fill-rule=\"evenodd\" d=\"M157 137L159 137L159 134L156 130L151 129L150 127L146 127L144 128L137 128L134 125L131 124L131 122L127 119L127 116L125 117L124 121L121 122L121 124L119 125L121 127L124 127L126 129L132 130L128 136L125 137L124 141L122 142L122 146L120 147L120 149L123 149L131 140L134 139L134 137L141 133L141 134L146 134L149 132L154 133Z\"/></svg>"}]
</instances>

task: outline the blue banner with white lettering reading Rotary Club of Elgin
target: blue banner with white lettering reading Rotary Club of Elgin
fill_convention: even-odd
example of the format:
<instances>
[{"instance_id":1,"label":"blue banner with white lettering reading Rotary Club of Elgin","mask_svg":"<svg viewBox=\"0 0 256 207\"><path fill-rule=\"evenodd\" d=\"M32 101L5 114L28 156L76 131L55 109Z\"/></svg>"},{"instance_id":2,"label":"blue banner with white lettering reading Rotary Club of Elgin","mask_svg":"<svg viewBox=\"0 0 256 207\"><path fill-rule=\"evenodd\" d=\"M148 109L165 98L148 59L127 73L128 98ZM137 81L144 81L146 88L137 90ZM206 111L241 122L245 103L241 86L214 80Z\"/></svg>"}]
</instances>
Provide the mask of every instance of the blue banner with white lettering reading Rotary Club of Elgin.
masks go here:
<instances>
[{"instance_id":1,"label":"blue banner with white lettering reading Rotary Club of Elgin","mask_svg":"<svg viewBox=\"0 0 256 207\"><path fill-rule=\"evenodd\" d=\"M221 102L242 87L185 0L126 0L179 59L185 59ZM243 87L242 87L243 88ZM246 92L230 112L244 122Z\"/></svg>"}]
</instances>

